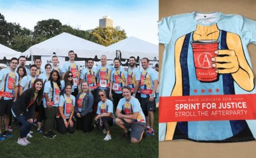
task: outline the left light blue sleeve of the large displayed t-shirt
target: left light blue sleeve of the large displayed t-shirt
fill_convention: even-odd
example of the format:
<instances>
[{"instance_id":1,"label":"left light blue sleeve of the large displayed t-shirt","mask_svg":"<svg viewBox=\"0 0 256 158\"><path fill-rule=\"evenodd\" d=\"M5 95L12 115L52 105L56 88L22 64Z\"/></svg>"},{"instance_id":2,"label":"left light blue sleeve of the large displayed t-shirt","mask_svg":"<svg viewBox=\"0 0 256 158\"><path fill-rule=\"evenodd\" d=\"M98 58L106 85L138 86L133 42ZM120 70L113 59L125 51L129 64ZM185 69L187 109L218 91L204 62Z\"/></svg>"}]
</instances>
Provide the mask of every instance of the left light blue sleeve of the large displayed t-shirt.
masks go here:
<instances>
[{"instance_id":1,"label":"left light blue sleeve of the large displayed t-shirt","mask_svg":"<svg viewBox=\"0 0 256 158\"><path fill-rule=\"evenodd\" d=\"M172 36L172 17L162 18L159 22L159 43L167 44L171 40Z\"/></svg>"}]
</instances>

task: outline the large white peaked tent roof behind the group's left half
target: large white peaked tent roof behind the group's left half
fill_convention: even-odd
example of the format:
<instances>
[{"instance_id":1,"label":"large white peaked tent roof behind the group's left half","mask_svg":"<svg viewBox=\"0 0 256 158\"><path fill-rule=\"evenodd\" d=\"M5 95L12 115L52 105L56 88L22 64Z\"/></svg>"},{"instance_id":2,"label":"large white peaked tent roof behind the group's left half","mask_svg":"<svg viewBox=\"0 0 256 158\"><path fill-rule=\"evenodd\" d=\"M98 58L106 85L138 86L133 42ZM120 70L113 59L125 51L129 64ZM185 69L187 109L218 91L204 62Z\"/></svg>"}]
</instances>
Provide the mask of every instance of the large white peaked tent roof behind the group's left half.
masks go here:
<instances>
[{"instance_id":1,"label":"large white peaked tent roof behind the group's left half","mask_svg":"<svg viewBox=\"0 0 256 158\"><path fill-rule=\"evenodd\" d=\"M44 42L29 47L29 49L22 53L22 55L26 57L31 55L52 56L55 52L56 56L66 57L68 56L69 50L74 50L78 57L94 58L96 55L99 56L99 52L105 50L105 46L64 32L51 39L45 40Z\"/></svg>"}]
</instances>

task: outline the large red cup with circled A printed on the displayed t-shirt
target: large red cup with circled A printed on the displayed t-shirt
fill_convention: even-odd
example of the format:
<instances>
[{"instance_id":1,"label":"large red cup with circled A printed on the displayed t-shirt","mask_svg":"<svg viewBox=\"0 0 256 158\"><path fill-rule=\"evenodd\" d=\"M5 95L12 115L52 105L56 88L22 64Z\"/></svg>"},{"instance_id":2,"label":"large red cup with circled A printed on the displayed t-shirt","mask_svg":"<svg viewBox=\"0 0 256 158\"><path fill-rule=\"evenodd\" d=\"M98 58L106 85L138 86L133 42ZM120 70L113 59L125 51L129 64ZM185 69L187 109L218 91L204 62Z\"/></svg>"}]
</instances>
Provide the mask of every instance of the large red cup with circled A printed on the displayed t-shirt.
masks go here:
<instances>
[{"instance_id":1,"label":"large red cup with circled A printed on the displayed t-shirt","mask_svg":"<svg viewBox=\"0 0 256 158\"><path fill-rule=\"evenodd\" d=\"M191 42L197 80L212 82L218 79L218 74L212 67L211 58L217 56L214 51L218 50L219 43L218 40L195 40Z\"/></svg>"}]
</instances>

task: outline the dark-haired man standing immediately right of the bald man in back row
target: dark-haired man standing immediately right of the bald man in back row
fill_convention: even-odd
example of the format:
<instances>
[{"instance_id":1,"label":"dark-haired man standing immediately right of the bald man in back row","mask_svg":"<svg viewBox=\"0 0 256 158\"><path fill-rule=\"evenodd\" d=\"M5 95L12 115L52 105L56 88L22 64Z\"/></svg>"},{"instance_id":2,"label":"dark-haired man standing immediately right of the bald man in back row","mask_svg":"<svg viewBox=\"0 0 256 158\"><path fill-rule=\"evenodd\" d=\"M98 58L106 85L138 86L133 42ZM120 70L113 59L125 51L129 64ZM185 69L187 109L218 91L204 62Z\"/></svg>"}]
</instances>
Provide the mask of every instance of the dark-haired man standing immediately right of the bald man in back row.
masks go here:
<instances>
[{"instance_id":1,"label":"dark-haired man standing immediately right of the bald man in back row","mask_svg":"<svg viewBox=\"0 0 256 158\"><path fill-rule=\"evenodd\" d=\"M111 72L111 82L110 82L110 91L109 91L109 98L114 99L114 107L117 108L117 104L122 96L122 87L127 85L127 71L121 67L121 60L115 58L113 60L115 70ZM113 96L112 96L112 90Z\"/></svg>"}]
</instances>

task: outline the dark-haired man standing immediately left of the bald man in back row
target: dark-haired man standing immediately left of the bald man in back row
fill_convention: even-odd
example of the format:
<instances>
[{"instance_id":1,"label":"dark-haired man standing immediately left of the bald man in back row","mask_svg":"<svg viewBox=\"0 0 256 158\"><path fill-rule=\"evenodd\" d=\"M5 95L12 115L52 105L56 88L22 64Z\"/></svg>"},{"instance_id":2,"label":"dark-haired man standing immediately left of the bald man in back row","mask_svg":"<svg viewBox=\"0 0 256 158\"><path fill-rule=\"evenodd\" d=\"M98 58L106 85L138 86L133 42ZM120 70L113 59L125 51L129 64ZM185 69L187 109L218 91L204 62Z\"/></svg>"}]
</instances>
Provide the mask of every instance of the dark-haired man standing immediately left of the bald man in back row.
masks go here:
<instances>
[{"instance_id":1,"label":"dark-haired man standing immediately left of the bald man in back row","mask_svg":"<svg viewBox=\"0 0 256 158\"><path fill-rule=\"evenodd\" d=\"M87 60L87 67L82 70L80 76L80 83L82 81L87 81L89 85L89 89L91 90L92 95L94 95L94 100L96 100L97 94L97 84L96 84L96 77L97 77L97 69L93 67L94 60L89 58Z\"/></svg>"}]
</instances>

